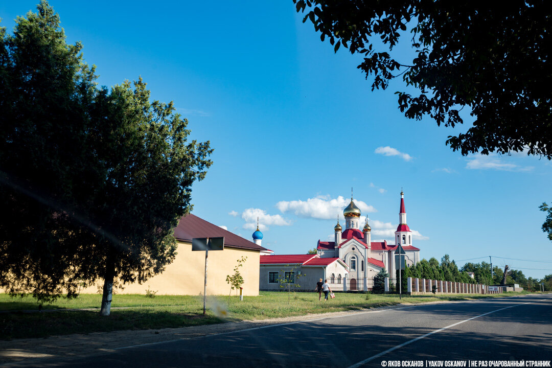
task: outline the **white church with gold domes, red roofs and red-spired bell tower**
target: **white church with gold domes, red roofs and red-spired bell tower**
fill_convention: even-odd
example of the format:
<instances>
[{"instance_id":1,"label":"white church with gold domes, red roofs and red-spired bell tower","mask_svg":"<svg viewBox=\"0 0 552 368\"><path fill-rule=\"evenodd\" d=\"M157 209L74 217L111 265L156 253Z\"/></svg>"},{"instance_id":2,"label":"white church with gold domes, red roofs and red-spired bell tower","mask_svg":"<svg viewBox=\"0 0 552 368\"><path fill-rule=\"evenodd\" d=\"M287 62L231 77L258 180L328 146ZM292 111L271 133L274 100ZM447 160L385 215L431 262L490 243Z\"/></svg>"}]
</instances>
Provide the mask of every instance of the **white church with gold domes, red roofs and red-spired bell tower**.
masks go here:
<instances>
[{"instance_id":1,"label":"white church with gold domes, red roofs and red-spired bell tower","mask_svg":"<svg viewBox=\"0 0 552 368\"><path fill-rule=\"evenodd\" d=\"M420 260L420 249L412 246L412 231L406 225L406 210L404 193L401 191L401 205L399 210L399 226L395 231L395 244L388 244L387 241L372 242L371 227L367 221L360 231L360 209L351 203L343 210L345 217L345 230L339 225L334 227L334 241L318 241L317 252L321 258L338 257L349 266L347 278L351 290L365 289L367 285L362 285L363 280L372 280L381 270L388 271L391 278L395 275L395 250L397 244L401 244L406 252L406 265L415 265ZM344 275L327 275L331 284L337 283ZM336 281L333 281L336 280ZM369 287L369 286L368 286Z\"/></svg>"}]
</instances>

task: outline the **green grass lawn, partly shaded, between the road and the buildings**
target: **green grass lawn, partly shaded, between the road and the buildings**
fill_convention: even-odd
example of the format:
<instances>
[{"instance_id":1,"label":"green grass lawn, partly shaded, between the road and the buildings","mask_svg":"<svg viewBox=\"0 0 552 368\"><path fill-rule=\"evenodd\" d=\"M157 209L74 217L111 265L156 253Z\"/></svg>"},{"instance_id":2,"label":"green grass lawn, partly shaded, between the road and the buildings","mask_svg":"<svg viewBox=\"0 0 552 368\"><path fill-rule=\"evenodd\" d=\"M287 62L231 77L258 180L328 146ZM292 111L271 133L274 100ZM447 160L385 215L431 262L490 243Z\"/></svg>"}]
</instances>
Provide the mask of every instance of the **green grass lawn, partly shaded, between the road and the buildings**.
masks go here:
<instances>
[{"instance_id":1,"label":"green grass lawn, partly shaded, between the road and the buildings","mask_svg":"<svg viewBox=\"0 0 552 368\"><path fill-rule=\"evenodd\" d=\"M108 332L113 330L160 329L195 326L274 317L302 316L309 313L354 311L364 308L392 306L398 303L420 303L439 300L469 300L481 297L503 297L527 292L488 296L403 296L336 293L336 298L319 302L314 292L261 292L259 296L244 297L240 302L227 296L208 297L208 313L203 316L203 297L188 295L114 295L109 317L99 316L102 296L82 294L75 299L60 298L44 305L41 313L30 296L12 298L0 294L0 339L47 337L72 333ZM323 295L322 295L323 296ZM71 309L92 308L91 311ZM8 312L10 311L10 312Z\"/></svg>"}]
</instances>

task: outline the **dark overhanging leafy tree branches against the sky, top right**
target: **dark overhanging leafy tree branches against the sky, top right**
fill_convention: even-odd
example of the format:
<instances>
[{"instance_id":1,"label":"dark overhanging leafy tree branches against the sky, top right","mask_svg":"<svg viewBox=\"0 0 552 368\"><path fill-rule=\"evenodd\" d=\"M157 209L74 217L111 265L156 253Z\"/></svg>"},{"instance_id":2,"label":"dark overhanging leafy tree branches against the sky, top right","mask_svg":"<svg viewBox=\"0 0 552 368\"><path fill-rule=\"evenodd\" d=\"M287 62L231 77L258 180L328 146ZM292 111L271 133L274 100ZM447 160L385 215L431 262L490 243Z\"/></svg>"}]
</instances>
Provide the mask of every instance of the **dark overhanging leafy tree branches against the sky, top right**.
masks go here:
<instances>
[{"instance_id":1,"label":"dark overhanging leafy tree branches against the sky, top right","mask_svg":"<svg viewBox=\"0 0 552 368\"><path fill-rule=\"evenodd\" d=\"M485 2L294 0L320 39L363 56L358 68L374 76L372 89L402 77L397 92L407 118L429 115L437 125L472 127L449 136L461 154L527 151L552 159L552 12L544 0ZM392 51L404 38L411 60ZM402 44L401 44L402 45ZM408 46L408 45L407 45Z\"/></svg>"}]
</instances>

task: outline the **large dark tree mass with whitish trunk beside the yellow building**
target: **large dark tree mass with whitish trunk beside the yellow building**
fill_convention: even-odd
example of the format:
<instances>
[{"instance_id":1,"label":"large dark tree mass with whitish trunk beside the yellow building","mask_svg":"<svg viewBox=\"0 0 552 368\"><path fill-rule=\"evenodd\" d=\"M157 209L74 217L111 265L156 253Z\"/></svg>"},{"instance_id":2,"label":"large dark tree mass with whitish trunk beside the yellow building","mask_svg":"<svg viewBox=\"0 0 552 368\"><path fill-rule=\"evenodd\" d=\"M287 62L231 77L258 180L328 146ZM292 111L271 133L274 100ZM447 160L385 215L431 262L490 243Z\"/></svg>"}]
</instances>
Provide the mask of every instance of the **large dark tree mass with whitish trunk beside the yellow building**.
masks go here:
<instances>
[{"instance_id":1,"label":"large dark tree mass with whitish trunk beside the yellow building","mask_svg":"<svg viewBox=\"0 0 552 368\"><path fill-rule=\"evenodd\" d=\"M102 279L108 315L114 283L174 259L212 150L141 78L97 88L82 45L45 0L37 9L0 31L0 287L43 302Z\"/></svg>"}]
</instances>

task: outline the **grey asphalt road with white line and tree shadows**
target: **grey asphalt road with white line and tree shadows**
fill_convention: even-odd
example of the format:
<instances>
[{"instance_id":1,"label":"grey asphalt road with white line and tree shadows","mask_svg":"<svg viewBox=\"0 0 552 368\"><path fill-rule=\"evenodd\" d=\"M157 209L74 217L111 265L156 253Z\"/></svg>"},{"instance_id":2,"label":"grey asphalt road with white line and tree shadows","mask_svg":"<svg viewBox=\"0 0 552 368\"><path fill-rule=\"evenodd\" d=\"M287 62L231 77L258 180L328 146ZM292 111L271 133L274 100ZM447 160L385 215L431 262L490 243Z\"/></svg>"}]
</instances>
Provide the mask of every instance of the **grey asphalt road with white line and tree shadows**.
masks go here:
<instances>
[{"instance_id":1,"label":"grey asphalt road with white line and tree shadows","mask_svg":"<svg viewBox=\"0 0 552 368\"><path fill-rule=\"evenodd\" d=\"M314 318L47 366L354 368L551 359L552 295L530 295Z\"/></svg>"}]
</instances>

